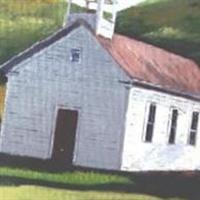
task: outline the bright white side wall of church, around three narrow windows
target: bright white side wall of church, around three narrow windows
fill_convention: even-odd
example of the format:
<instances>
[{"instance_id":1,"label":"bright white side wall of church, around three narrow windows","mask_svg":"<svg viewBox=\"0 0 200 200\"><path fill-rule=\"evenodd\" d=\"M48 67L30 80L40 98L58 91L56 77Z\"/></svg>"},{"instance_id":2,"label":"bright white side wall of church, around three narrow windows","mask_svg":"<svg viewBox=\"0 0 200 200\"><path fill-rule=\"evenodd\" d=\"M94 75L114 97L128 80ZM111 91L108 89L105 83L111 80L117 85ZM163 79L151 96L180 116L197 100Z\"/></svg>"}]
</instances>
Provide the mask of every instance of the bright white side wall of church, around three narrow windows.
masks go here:
<instances>
[{"instance_id":1,"label":"bright white side wall of church, around three narrow windows","mask_svg":"<svg viewBox=\"0 0 200 200\"><path fill-rule=\"evenodd\" d=\"M145 121L150 102L157 105L152 143L145 143ZM170 109L179 110L175 145L168 144ZM196 146L187 144L192 112L200 112L200 103L169 94L133 87L126 115L122 170L194 170L200 169L200 123Z\"/></svg>"}]
</instances>

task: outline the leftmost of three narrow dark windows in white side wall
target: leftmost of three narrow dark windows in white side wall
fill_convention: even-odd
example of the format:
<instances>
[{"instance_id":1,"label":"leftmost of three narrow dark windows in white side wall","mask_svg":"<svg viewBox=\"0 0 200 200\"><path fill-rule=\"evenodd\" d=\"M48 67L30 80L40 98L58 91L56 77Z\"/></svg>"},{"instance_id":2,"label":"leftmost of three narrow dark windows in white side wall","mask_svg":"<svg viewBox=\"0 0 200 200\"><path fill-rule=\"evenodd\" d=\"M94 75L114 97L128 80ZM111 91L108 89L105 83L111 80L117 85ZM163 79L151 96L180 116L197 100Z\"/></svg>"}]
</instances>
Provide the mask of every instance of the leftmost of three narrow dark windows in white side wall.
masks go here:
<instances>
[{"instance_id":1,"label":"leftmost of three narrow dark windows in white side wall","mask_svg":"<svg viewBox=\"0 0 200 200\"><path fill-rule=\"evenodd\" d=\"M156 105L151 104L149 107L148 121L146 126L145 142L151 142L153 138L153 129L156 116Z\"/></svg>"}]
</instances>

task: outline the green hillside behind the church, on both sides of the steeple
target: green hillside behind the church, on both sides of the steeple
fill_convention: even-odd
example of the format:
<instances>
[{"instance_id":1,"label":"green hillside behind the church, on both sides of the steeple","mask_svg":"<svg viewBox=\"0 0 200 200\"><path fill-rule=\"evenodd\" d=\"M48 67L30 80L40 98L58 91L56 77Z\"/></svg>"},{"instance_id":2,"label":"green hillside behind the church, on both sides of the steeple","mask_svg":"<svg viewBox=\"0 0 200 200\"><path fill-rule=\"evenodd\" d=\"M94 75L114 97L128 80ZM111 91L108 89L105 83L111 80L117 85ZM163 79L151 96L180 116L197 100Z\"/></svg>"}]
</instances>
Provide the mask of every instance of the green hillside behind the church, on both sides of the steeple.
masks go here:
<instances>
[{"instance_id":1,"label":"green hillside behind the church, on both sides of the steeple","mask_svg":"<svg viewBox=\"0 0 200 200\"><path fill-rule=\"evenodd\" d=\"M60 28L65 10L64 0L0 0L0 63ZM116 31L200 63L199 0L147 0L120 12Z\"/></svg>"}]
</instances>

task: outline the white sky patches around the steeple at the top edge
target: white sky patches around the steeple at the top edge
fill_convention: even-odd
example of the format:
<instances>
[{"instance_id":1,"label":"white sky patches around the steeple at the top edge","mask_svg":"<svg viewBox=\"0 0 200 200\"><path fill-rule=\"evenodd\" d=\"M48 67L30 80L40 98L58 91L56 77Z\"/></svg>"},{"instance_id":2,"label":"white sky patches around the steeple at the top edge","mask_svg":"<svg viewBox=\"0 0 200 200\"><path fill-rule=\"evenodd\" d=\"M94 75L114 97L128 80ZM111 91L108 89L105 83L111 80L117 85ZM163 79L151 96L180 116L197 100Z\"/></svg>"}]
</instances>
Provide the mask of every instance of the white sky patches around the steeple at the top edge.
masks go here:
<instances>
[{"instance_id":1,"label":"white sky patches around the steeple at the top edge","mask_svg":"<svg viewBox=\"0 0 200 200\"><path fill-rule=\"evenodd\" d=\"M74 3L80 5L80 6L84 6L85 5L85 0L72 0ZM128 7L137 5L145 0L117 0L118 4L117 4L117 10L124 10ZM109 10L109 6L107 7L106 10Z\"/></svg>"}]
</instances>

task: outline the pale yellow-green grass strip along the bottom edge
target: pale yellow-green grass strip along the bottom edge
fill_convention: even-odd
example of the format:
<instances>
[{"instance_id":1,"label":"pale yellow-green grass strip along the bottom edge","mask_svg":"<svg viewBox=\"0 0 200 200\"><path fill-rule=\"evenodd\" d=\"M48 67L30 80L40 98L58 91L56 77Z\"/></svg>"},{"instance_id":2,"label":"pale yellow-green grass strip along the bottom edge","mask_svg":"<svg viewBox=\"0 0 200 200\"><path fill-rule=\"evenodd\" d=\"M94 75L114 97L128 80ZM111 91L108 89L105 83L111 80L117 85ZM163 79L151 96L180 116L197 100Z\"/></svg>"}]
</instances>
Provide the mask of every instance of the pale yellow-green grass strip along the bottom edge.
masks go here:
<instances>
[{"instance_id":1,"label":"pale yellow-green grass strip along the bottom edge","mask_svg":"<svg viewBox=\"0 0 200 200\"><path fill-rule=\"evenodd\" d=\"M70 191L37 186L2 187L3 200L161 200L150 195L125 194L119 192ZM172 198L170 198L172 200ZM168 199L168 200L170 200ZM175 200L175 199L174 199ZM178 200L178 199L177 199Z\"/></svg>"}]
</instances>

